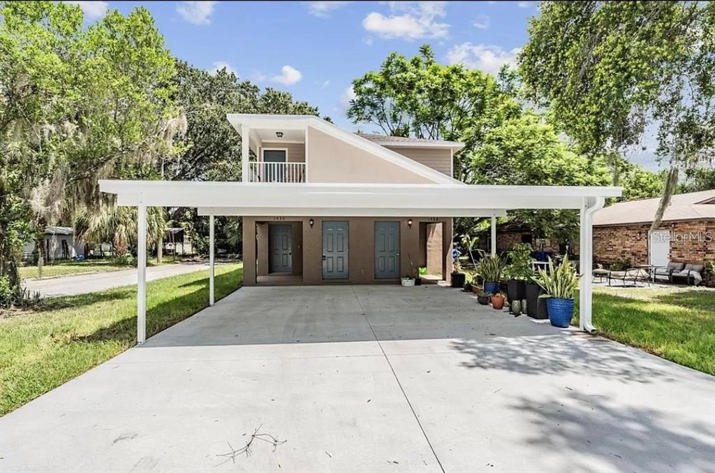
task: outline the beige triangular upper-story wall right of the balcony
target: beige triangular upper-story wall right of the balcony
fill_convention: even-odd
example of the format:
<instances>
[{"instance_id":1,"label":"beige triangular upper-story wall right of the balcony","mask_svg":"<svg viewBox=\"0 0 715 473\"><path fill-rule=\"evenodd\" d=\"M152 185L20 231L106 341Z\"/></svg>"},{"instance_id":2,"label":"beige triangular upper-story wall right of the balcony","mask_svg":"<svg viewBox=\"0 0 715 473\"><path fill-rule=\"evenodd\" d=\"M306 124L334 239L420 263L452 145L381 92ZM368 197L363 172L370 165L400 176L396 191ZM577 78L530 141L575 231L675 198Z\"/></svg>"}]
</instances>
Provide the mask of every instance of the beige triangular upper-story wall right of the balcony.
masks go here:
<instances>
[{"instance_id":1,"label":"beige triangular upper-story wall right of the balcony","mask_svg":"<svg viewBox=\"0 0 715 473\"><path fill-rule=\"evenodd\" d=\"M432 180L381 157L308 128L308 182L433 184Z\"/></svg>"}]
</instances>

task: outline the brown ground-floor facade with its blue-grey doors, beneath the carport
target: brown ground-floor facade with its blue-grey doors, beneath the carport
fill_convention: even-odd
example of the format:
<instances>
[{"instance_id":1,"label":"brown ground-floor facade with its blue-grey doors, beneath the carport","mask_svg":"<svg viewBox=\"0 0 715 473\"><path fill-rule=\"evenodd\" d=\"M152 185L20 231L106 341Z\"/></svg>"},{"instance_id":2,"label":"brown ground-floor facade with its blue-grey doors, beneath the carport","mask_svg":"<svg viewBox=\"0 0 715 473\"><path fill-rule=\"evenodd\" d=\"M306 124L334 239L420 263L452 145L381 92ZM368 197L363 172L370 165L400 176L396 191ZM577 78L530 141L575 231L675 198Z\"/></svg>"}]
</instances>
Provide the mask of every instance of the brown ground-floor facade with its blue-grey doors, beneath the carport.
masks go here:
<instances>
[{"instance_id":1,"label":"brown ground-floor facade with its blue-grey doors, beneath the carport","mask_svg":"<svg viewBox=\"0 0 715 473\"><path fill-rule=\"evenodd\" d=\"M243 220L246 286L398 283L420 267L448 281L452 270L451 218Z\"/></svg>"}]
</instances>

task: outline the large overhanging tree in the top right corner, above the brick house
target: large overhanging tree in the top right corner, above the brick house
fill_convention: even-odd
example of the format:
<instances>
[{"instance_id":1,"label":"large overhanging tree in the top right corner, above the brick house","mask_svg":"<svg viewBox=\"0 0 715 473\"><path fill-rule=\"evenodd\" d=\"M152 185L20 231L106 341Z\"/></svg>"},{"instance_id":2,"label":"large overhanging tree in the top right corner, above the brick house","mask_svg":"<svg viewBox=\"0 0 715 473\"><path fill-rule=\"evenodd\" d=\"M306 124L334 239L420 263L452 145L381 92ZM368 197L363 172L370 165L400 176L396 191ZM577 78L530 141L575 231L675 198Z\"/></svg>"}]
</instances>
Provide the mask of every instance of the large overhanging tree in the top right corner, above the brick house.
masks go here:
<instances>
[{"instance_id":1,"label":"large overhanging tree in the top right corner, above the brick house","mask_svg":"<svg viewBox=\"0 0 715 473\"><path fill-rule=\"evenodd\" d=\"M657 228L680 170L715 151L715 4L699 1L544 1L529 24L520 71L529 97L589 155L620 156L657 128L670 168Z\"/></svg>"}]
</instances>

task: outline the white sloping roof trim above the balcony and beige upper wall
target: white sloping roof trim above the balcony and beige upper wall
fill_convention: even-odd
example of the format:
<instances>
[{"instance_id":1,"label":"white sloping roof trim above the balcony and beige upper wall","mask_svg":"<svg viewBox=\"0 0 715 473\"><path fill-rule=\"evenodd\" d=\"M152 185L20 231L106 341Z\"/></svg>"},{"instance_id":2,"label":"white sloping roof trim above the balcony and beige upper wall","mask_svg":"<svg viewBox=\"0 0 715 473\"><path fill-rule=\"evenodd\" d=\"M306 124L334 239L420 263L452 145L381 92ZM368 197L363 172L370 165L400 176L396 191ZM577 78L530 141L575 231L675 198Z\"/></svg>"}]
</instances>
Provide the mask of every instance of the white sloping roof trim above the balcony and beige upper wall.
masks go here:
<instances>
[{"instance_id":1,"label":"white sloping roof trim above the balcony and beige upper wall","mask_svg":"<svg viewBox=\"0 0 715 473\"><path fill-rule=\"evenodd\" d=\"M242 125L247 127L270 127L282 128L284 130L298 130L307 127L313 127L316 130L326 133L338 140L347 142L350 145L360 148L365 152L383 158L388 162L405 168L410 172L425 177L437 184L456 184L464 185L442 172L433 170L429 166L423 165L421 162L411 160L409 157L400 155L400 153L390 150L383 146L383 143L372 142L366 138L355 135L354 133L342 130L337 125L322 120L315 115L268 115L268 114L240 114L230 113L226 115L227 120L236 130L241 130Z\"/></svg>"}]
</instances>

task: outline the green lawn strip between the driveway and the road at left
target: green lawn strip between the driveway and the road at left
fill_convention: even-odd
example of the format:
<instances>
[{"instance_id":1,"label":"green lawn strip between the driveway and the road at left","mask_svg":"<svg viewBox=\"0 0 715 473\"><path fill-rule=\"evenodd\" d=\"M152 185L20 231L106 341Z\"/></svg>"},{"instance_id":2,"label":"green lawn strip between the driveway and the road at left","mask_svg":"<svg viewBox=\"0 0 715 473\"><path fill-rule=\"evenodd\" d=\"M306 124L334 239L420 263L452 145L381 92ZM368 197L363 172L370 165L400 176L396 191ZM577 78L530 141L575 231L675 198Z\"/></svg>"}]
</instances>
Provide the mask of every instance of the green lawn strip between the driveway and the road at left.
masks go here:
<instances>
[{"instance_id":1,"label":"green lawn strip between the driveway and the road at left","mask_svg":"<svg viewBox=\"0 0 715 473\"><path fill-rule=\"evenodd\" d=\"M218 265L216 298L242 281L241 263ZM0 318L0 416L133 346L136 298L136 286L126 286L55 298L64 306ZM147 283L147 337L205 308L208 300L208 270Z\"/></svg>"}]
</instances>

